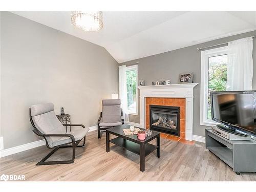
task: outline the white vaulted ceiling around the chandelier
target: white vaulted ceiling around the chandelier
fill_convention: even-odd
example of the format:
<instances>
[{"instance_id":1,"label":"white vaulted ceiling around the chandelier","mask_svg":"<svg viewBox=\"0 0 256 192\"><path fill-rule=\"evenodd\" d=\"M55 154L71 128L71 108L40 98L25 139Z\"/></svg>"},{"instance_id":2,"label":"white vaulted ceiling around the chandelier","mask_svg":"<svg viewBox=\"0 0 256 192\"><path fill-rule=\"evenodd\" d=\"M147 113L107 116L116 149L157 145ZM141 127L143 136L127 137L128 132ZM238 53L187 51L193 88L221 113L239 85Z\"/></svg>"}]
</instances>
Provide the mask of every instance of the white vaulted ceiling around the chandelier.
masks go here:
<instances>
[{"instance_id":1,"label":"white vaulted ceiling around the chandelier","mask_svg":"<svg viewBox=\"0 0 256 192\"><path fill-rule=\"evenodd\" d=\"M249 11L109 11L98 32L73 26L68 11L13 13L100 45L119 63L256 30L256 12Z\"/></svg>"}]
</instances>

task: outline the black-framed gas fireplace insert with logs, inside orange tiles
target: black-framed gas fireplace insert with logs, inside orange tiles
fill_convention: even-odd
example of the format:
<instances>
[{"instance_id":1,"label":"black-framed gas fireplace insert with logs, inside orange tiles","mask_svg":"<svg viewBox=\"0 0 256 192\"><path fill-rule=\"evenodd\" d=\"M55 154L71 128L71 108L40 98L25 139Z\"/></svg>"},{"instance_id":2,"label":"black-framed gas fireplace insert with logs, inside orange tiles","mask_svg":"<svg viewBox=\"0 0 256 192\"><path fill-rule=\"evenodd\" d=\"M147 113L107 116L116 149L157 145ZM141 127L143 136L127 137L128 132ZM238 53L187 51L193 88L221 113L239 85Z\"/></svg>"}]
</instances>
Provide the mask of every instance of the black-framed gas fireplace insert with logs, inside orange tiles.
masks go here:
<instances>
[{"instance_id":1,"label":"black-framed gas fireplace insert with logs, inside orange tiles","mask_svg":"<svg viewBox=\"0 0 256 192\"><path fill-rule=\"evenodd\" d=\"M150 129L180 136L180 107L150 105Z\"/></svg>"}]
</instances>

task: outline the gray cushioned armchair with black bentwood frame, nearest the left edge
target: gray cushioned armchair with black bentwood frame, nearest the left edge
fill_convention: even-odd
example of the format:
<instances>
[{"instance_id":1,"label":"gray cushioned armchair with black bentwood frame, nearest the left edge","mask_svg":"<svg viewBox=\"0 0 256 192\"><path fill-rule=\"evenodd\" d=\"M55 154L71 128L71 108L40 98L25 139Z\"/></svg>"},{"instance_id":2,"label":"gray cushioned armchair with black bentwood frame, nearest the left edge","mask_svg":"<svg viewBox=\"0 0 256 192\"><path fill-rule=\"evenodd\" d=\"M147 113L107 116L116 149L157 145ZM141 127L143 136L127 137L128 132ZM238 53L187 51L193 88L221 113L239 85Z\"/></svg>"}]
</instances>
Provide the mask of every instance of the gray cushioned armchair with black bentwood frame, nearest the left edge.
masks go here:
<instances>
[{"instance_id":1,"label":"gray cushioned armchair with black bentwood frame, nearest the left edge","mask_svg":"<svg viewBox=\"0 0 256 192\"><path fill-rule=\"evenodd\" d=\"M71 126L81 126L82 129L66 132L66 128L63 126L66 124L61 124L57 119L54 113L53 103L32 105L29 109L29 116L30 122L34 127L33 132L45 138L48 148L54 148L51 153L36 165L73 163L75 159L75 147L84 146L89 128L84 127L82 124L71 124ZM82 139L83 144L78 145ZM73 147L72 160L46 161L60 147Z\"/></svg>"}]
</instances>

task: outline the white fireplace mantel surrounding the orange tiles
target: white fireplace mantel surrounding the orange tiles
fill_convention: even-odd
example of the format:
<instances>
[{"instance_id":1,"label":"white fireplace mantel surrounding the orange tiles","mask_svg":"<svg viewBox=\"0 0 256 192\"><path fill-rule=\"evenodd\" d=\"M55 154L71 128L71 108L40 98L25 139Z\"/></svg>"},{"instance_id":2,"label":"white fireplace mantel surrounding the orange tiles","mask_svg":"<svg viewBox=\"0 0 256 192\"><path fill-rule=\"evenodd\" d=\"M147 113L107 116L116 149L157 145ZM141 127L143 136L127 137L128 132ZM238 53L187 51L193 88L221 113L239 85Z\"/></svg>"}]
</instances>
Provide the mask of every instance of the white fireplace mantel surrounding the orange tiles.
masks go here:
<instances>
[{"instance_id":1,"label":"white fireplace mantel surrounding the orange tiles","mask_svg":"<svg viewBox=\"0 0 256 192\"><path fill-rule=\"evenodd\" d=\"M140 90L140 125L145 127L145 98L160 97L160 98L185 98L185 139L192 141L193 137L193 97L194 87L198 83L186 84L169 84L163 86L141 86Z\"/></svg>"}]
</instances>

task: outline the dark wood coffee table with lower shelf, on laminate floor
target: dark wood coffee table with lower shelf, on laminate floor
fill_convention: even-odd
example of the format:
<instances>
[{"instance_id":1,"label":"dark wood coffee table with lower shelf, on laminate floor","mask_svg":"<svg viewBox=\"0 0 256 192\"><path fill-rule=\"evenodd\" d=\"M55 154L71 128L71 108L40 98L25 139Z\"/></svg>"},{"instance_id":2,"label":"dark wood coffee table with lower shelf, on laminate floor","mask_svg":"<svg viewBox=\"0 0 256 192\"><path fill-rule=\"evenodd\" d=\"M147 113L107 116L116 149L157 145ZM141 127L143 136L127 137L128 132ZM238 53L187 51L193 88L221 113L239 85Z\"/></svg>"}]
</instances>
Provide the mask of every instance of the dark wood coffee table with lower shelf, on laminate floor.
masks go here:
<instances>
[{"instance_id":1,"label":"dark wood coffee table with lower shelf, on laminate floor","mask_svg":"<svg viewBox=\"0 0 256 192\"><path fill-rule=\"evenodd\" d=\"M110 152L110 142L140 156L140 171L145 170L145 157L157 150L157 157L160 158L160 133L153 131L151 136L145 140L139 140L137 135L124 135L123 129L130 128L130 125L122 124L106 130L106 152ZM141 129L140 130L144 130ZM110 134L118 137L110 140ZM157 139L157 145L148 142Z\"/></svg>"}]
</instances>

